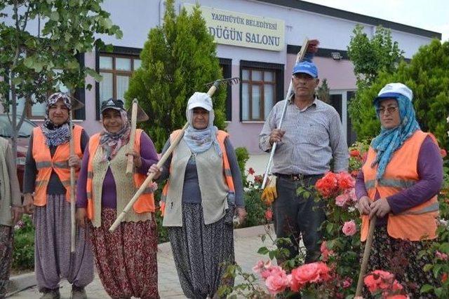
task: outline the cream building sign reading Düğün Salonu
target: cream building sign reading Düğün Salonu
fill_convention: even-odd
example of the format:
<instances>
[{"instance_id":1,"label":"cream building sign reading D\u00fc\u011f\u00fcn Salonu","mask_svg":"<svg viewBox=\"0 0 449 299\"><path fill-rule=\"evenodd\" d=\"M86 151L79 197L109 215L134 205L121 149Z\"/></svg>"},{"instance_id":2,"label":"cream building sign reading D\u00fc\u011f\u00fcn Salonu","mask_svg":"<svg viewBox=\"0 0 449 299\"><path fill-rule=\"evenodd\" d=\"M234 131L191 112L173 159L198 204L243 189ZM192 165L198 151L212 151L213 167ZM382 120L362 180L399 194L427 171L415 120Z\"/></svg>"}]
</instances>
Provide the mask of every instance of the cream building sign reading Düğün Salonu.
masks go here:
<instances>
[{"instance_id":1,"label":"cream building sign reading D\u00fc\u011f\u00fcn Salonu","mask_svg":"<svg viewBox=\"0 0 449 299\"><path fill-rule=\"evenodd\" d=\"M187 13L193 4L184 4ZM200 6L209 33L216 43L225 45L281 51L284 48L284 21L246 15L234 11Z\"/></svg>"}]
</instances>

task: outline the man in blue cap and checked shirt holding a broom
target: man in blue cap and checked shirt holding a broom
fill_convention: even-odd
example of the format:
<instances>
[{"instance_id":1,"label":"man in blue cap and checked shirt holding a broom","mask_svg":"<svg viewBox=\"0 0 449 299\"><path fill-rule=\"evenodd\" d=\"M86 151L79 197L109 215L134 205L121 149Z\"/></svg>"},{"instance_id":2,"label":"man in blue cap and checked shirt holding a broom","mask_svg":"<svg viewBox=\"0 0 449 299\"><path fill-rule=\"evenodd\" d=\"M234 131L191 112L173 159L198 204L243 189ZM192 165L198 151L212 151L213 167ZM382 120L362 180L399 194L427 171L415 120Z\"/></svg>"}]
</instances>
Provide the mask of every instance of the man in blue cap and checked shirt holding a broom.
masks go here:
<instances>
[{"instance_id":1,"label":"man in blue cap and checked shirt holding a broom","mask_svg":"<svg viewBox=\"0 0 449 299\"><path fill-rule=\"evenodd\" d=\"M319 260L321 233L326 219L326 204L315 198L297 195L300 187L314 185L323 174L343 172L348 167L348 148L337 111L315 97L319 85L314 62L295 65L292 75L293 94L274 105L259 135L262 151L277 143L272 173L277 177L273 203L276 236L290 237L292 244L278 244L288 249L290 259L298 255L300 238L306 247L305 263ZM282 127L279 127L285 101L288 101ZM278 258L278 263L283 262Z\"/></svg>"}]
</instances>

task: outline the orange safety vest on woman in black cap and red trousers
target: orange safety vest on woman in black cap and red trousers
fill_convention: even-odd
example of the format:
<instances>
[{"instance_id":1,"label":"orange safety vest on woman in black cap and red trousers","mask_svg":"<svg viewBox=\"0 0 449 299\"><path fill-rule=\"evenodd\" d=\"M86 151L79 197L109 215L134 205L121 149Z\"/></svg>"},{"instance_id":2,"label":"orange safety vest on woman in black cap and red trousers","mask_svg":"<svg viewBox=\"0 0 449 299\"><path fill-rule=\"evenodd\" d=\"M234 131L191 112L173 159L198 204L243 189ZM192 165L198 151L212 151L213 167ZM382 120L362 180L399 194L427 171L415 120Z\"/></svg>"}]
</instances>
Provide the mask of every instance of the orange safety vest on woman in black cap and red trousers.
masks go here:
<instances>
[{"instance_id":1,"label":"orange safety vest on woman in black cap and red trousers","mask_svg":"<svg viewBox=\"0 0 449 299\"><path fill-rule=\"evenodd\" d=\"M140 135L142 134L141 129L135 130L135 140L134 140L134 151L140 153ZM97 151L98 146L100 145L100 133L93 135L91 139L89 139L89 161L87 166L87 184L86 184L86 193L87 193L87 216L89 219L93 220L94 214L94 205L93 205L93 158L95 156L95 152ZM125 169L123 169L123 172ZM147 179L145 174L140 174L135 172L133 175L135 188L140 188L142 183ZM101 200L101 199L100 199ZM150 188L145 189L142 195L139 196L138 200L133 204L133 209L136 213L147 213L154 212L154 196L152 190Z\"/></svg>"}]
</instances>

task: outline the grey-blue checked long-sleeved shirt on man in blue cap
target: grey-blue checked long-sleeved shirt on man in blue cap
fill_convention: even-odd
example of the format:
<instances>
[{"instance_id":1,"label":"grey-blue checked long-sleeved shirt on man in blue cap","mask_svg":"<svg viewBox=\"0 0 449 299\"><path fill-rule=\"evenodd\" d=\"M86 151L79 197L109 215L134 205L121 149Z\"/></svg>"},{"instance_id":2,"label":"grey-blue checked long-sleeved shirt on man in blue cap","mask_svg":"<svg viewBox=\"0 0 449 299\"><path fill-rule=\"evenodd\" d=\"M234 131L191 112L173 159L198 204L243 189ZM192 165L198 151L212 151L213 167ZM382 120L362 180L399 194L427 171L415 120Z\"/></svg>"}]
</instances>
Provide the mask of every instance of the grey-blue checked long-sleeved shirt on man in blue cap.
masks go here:
<instances>
[{"instance_id":1,"label":"grey-blue checked long-sleeved shirt on man in blue cap","mask_svg":"<svg viewBox=\"0 0 449 299\"><path fill-rule=\"evenodd\" d=\"M276 146L273 157L273 173L324 174L330 170L342 172L348 168L349 153L344 131L337 111L319 99L306 109L299 109L293 97L288 99L286 116L281 130L286 133ZM259 134L259 147L269 151L269 134L279 128L286 100L274 105Z\"/></svg>"}]
</instances>

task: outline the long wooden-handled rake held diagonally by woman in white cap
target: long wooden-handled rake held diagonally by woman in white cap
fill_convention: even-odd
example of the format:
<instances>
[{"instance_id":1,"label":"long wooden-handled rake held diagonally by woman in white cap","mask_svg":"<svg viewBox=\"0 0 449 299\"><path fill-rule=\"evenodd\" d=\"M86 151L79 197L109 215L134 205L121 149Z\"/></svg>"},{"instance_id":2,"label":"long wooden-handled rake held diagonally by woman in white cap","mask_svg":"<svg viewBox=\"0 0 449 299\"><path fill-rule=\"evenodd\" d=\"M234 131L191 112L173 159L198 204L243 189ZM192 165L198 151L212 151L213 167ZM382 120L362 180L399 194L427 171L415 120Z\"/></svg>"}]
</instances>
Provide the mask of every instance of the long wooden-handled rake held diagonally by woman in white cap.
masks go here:
<instances>
[{"instance_id":1,"label":"long wooden-handled rake held diagonally by woman in white cap","mask_svg":"<svg viewBox=\"0 0 449 299\"><path fill-rule=\"evenodd\" d=\"M233 85L233 84L239 83L239 82L240 82L240 78L226 78L226 79L220 79L220 80L216 80L214 82L208 83L207 86L210 86L210 88L208 90L208 95L210 97L212 97L215 90L217 90L217 88L220 85ZM157 164L156 164L157 167L160 168L163 165L163 163L166 162L168 157L170 157L171 153L173 152L173 150L175 149L177 144L180 142L182 136L184 135L184 131L187 129L188 126L189 126L189 122L185 123L184 127L182 127L180 134L177 134L177 137L175 137L175 140L173 140L173 142L170 144L166 153L164 153L163 156L161 157L161 160L159 160L159 162L157 162ZM145 188L147 188L149 183L152 182L153 177L154 177L154 174L150 174L149 176L147 176L147 179L145 179L145 181L142 183L142 186L140 186L140 188L137 190L137 192L135 193L133 198L131 198L131 200L128 202L128 204L126 204L125 209L123 209L123 211L121 212L121 214L119 214L119 216L116 218L114 223L112 223L111 227L109 228L109 232L114 232L114 230L116 230L117 226L119 226L119 224L121 223L123 218L126 216L126 213L128 213L128 211L131 209L131 207L133 207L133 204L138 200L140 195L142 195L143 191L145 190Z\"/></svg>"}]
</instances>

